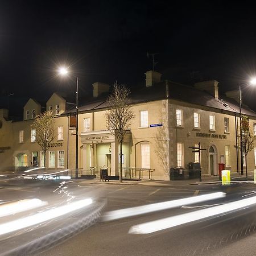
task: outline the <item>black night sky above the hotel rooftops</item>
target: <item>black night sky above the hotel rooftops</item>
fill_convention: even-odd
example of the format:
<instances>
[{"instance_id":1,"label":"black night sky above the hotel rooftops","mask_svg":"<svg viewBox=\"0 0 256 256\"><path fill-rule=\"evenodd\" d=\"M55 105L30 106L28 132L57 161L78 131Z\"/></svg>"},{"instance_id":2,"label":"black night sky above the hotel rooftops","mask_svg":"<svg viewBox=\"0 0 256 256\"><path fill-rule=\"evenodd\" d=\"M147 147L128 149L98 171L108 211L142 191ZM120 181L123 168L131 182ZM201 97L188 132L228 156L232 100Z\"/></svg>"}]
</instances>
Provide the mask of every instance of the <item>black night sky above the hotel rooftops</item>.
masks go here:
<instances>
[{"instance_id":1,"label":"black night sky above the hotel rooftops","mask_svg":"<svg viewBox=\"0 0 256 256\"><path fill-rule=\"evenodd\" d=\"M152 69L163 79L193 84L216 79L220 91L241 83L256 110L256 15L226 1L0 1L1 97L44 100L55 91L80 97L96 81L144 83ZM56 75L65 64L72 77Z\"/></svg>"}]
</instances>

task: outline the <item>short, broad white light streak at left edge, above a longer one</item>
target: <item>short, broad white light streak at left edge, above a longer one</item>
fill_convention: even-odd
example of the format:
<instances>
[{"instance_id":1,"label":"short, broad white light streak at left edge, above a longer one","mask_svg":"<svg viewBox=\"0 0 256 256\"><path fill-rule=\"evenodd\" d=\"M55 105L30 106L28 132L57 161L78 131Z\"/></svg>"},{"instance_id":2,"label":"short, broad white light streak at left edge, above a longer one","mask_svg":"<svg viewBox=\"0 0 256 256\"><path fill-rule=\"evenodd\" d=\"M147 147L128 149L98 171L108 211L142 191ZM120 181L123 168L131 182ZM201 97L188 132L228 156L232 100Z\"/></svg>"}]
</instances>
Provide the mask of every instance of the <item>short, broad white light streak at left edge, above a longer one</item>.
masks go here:
<instances>
[{"instance_id":1,"label":"short, broad white light streak at left edge, above a longer one","mask_svg":"<svg viewBox=\"0 0 256 256\"><path fill-rule=\"evenodd\" d=\"M24 199L14 203L3 204L0 206L0 217L42 207L46 204L46 201L40 199Z\"/></svg>"}]
</instances>

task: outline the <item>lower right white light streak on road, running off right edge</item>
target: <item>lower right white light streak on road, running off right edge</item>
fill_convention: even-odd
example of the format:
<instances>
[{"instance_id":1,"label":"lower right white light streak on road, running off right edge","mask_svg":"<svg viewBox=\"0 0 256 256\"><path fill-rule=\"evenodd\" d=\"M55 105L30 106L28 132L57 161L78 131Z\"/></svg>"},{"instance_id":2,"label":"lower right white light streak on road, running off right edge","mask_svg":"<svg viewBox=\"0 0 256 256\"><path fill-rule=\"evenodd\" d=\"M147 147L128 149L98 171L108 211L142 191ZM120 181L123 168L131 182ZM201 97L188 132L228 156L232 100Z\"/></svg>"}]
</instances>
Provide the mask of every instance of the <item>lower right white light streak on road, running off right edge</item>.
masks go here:
<instances>
[{"instance_id":1,"label":"lower right white light streak on road, running off right edge","mask_svg":"<svg viewBox=\"0 0 256 256\"><path fill-rule=\"evenodd\" d=\"M196 210L195 212L184 213L177 216L163 218L161 220L150 221L143 224L132 226L129 230L130 234L149 234L159 230L172 228L188 222L201 220L203 218L212 217L218 214L228 213L232 210L242 209L256 204L256 196L247 199L238 200L216 207Z\"/></svg>"}]
</instances>

